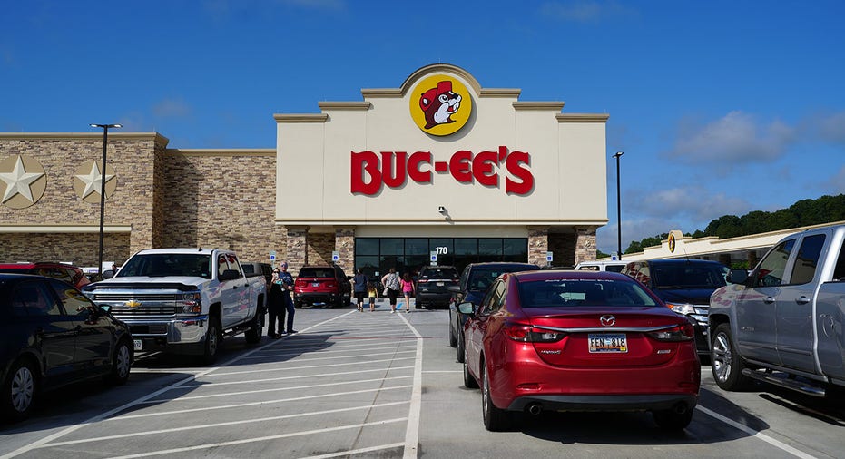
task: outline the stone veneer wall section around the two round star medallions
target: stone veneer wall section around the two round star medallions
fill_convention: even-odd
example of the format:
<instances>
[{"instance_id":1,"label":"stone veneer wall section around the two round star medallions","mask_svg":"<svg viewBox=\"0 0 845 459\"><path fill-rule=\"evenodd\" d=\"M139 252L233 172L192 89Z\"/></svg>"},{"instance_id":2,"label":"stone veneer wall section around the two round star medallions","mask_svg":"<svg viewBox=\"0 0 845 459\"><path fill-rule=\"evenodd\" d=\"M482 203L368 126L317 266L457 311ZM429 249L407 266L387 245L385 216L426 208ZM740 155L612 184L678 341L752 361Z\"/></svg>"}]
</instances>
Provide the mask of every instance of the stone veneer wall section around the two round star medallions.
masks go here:
<instances>
[{"instance_id":1,"label":"stone veneer wall section around the two round star medallions","mask_svg":"<svg viewBox=\"0 0 845 459\"><path fill-rule=\"evenodd\" d=\"M105 233L103 260L123 263L135 250L152 245L152 169L154 145L167 139L154 132L110 131L108 164L116 189L105 201L104 223L132 225L132 235ZM25 209L0 205L0 262L18 260L71 261L96 266L99 249L100 205L85 202L74 192L74 175L85 161L103 160L103 133L0 134L0 161L25 154L37 160L47 177L44 196ZM4 232L2 227L32 227L28 233ZM47 233L42 226L88 227L85 232Z\"/></svg>"}]
</instances>

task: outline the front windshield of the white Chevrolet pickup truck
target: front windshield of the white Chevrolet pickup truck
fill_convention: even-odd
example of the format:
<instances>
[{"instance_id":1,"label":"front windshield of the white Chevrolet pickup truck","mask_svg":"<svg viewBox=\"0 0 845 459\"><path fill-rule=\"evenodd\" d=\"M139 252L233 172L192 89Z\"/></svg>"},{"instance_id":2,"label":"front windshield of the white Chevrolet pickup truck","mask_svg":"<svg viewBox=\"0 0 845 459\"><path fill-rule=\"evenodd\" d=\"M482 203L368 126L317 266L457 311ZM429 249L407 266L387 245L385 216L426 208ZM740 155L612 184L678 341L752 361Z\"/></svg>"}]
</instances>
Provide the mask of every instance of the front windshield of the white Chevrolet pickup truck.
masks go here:
<instances>
[{"instance_id":1,"label":"front windshield of the white Chevrolet pickup truck","mask_svg":"<svg viewBox=\"0 0 845 459\"><path fill-rule=\"evenodd\" d=\"M211 255L201 253L154 253L135 255L117 271L115 278L187 276L211 278Z\"/></svg>"}]
</instances>

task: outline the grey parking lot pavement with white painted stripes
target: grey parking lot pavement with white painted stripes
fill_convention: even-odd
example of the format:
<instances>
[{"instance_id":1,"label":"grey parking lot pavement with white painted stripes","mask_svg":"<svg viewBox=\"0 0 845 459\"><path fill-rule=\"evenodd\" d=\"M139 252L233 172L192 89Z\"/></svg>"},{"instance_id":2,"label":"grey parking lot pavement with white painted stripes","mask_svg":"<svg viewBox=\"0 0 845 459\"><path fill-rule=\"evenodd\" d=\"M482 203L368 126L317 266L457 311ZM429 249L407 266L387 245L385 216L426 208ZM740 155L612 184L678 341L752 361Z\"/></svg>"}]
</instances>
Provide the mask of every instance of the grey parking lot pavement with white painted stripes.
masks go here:
<instances>
[{"instance_id":1,"label":"grey parking lot pavement with white painted stripes","mask_svg":"<svg viewBox=\"0 0 845 459\"><path fill-rule=\"evenodd\" d=\"M703 367L693 423L645 413L543 413L486 432L446 310L300 309L300 333L225 341L216 366L138 355L126 386L69 386L2 425L2 457L841 457L845 408L727 393Z\"/></svg>"}]
</instances>

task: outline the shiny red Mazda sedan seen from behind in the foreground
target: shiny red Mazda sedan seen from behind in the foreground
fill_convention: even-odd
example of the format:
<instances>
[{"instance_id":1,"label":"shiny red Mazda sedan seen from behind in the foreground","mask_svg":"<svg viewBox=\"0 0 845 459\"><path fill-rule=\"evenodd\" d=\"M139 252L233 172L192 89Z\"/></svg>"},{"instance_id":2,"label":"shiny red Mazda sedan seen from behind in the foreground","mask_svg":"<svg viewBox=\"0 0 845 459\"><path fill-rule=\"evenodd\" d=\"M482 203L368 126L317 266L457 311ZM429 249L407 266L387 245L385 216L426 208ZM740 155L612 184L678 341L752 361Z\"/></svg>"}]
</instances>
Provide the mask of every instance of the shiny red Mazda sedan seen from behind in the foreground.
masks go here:
<instances>
[{"instance_id":1,"label":"shiny red Mazda sedan seen from behind in the foreground","mask_svg":"<svg viewBox=\"0 0 845 459\"><path fill-rule=\"evenodd\" d=\"M487 430L516 412L651 411L664 429L693 418L701 385L693 324L614 272L503 274L463 303L464 384L482 387Z\"/></svg>"}]
</instances>

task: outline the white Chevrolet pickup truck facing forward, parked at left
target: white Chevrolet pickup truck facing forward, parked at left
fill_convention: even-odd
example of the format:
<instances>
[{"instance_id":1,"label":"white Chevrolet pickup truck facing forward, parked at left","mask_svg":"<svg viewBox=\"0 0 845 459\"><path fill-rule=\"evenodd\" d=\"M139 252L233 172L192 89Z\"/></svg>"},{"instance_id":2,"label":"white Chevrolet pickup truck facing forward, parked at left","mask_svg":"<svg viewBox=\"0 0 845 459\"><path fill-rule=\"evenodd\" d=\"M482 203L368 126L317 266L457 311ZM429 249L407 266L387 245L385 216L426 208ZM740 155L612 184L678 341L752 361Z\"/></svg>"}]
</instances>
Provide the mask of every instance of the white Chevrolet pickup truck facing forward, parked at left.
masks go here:
<instances>
[{"instance_id":1,"label":"white Chevrolet pickup truck facing forward, parked at left","mask_svg":"<svg viewBox=\"0 0 845 459\"><path fill-rule=\"evenodd\" d=\"M135 351L201 356L211 364L224 335L261 339L266 280L247 277L231 250L147 249L113 278L89 284L84 294L132 330Z\"/></svg>"}]
</instances>

